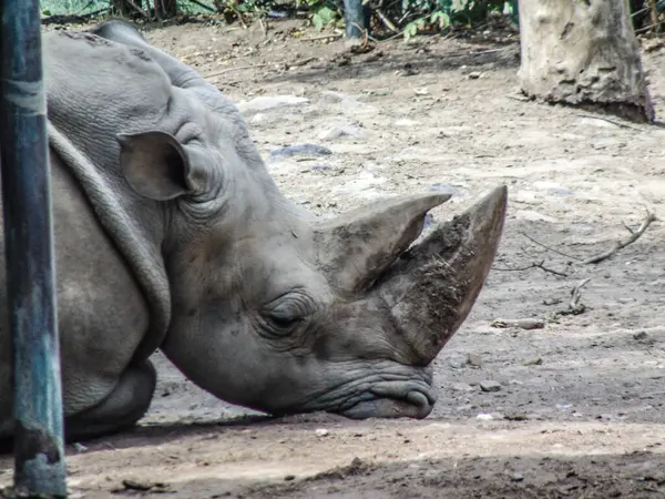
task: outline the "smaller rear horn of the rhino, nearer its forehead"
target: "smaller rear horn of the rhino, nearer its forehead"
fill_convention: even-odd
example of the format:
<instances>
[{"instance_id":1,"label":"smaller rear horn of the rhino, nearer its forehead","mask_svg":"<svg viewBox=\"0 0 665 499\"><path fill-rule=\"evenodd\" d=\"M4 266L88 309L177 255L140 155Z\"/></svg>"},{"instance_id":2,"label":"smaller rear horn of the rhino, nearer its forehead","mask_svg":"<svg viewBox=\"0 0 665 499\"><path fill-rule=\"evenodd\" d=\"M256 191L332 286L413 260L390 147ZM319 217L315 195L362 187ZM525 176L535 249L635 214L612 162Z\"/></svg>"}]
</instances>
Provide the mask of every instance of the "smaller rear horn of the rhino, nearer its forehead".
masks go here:
<instances>
[{"instance_id":1,"label":"smaller rear horn of the rhino, nearer its forehead","mask_svg":"<svg viewBox=\"0 0 665 499\"><path fill-rule=\"evenodd\" d=\"M420 194L382 200L319 224L319 264L338 288L367 288L418 238L427 212L449 198Z\"/></svg>"}]
</instances>

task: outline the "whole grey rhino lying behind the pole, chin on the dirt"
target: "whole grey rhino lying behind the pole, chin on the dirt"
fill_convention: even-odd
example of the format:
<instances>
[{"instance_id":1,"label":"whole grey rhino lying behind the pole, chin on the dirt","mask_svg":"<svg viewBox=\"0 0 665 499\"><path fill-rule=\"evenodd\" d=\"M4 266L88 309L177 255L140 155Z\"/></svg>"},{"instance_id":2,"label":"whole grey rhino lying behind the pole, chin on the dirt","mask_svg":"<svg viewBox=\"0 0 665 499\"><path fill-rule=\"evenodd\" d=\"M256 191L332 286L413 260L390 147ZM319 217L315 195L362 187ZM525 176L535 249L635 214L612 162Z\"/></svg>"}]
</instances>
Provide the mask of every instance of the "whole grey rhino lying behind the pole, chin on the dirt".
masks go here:
<instances>
[{"instance_id":1,"label":"whole grey rhino lying behind the pole, chin on the dirt","mask_svg":"<svg viewBox=\"0 0 665 499\"><path fill-rule=\"evenodd\" d=\"M215 396L269 414L426 417L428 365L482 287L505 189L411 248L448 195L319 221L278 191L216 89L129 24L93 32L43 34L66 439L145 414L156 348Z\"/></svg>"}]
</instances>

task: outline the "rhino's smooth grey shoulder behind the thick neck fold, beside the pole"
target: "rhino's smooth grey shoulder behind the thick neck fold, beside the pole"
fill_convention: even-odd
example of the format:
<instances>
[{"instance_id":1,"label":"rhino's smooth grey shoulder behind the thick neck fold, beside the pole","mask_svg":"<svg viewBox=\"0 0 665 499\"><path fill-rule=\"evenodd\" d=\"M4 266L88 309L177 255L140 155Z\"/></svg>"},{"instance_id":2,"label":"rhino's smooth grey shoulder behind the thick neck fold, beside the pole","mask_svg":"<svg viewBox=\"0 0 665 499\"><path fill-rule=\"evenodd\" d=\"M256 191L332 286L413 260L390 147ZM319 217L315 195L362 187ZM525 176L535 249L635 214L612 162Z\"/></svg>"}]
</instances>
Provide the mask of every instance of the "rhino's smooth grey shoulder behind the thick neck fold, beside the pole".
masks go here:
<instances>
[{"instance_id":1,"label":"rhino's smooth grey shoulder behind the thick neck fold, beside the pole","mask_svg":"<svg viewBox=\"0 0 665 499\"><path fill-rule=\"evenodd\" d=\"M149 325L136 279L78 182L51 152L58 326L66 416L102 400ZM0 437L11 432L11 335L0 215Z\"/></svg>"}]
</instances>

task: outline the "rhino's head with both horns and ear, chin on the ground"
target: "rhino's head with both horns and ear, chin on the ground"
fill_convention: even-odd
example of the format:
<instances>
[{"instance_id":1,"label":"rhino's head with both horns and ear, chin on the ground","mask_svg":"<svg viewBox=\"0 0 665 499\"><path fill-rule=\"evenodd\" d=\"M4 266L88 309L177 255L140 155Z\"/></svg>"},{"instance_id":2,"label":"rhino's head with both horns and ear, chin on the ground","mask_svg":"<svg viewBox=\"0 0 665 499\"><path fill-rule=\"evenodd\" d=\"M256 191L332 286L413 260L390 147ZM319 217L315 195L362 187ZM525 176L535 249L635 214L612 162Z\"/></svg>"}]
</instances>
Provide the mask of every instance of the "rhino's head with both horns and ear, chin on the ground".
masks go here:
<instances>
[{"instance_id":1,"label":"rhino's head with both horns and ear, chin on the ground","mask_svg":"<svg viewBox=\"0 0 665 499\"><path fill-rule=\"evenodd\" d=\"M124 179L160 203L167 224L165 355L216 397L273 415L426 417L436 401L429 365L481 291L507 189L417 245L424 215L449 195L319 220L279 192L216 89L126 24L95 32L141 48L175 96L186 90L196 101L187 141L155 130L119 135Z\"/></svg>"}]
</instances>

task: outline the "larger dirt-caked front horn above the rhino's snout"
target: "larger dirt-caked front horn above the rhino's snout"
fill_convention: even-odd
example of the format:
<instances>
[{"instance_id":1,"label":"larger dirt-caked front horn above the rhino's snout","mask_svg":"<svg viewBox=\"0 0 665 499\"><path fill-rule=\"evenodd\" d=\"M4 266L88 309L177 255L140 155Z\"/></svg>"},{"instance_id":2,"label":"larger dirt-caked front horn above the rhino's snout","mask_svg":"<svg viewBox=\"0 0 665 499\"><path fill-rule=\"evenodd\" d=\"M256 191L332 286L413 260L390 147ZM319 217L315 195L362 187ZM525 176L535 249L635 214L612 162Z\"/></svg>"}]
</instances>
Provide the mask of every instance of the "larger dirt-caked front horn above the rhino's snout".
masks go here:
<instances>
[{"instance_id":1,"label":"larger dirt-caked front horn above the rhino's snout","mask_svg":"<svg viewBox=\"0 0 665 499\"><path fill-rule=\"evenodd\" d=\"M376 283L416 365L433 360L469 315L499 247L507 203L507 187L494 189L411 247Z\"/></svg>"}]
</instances>

